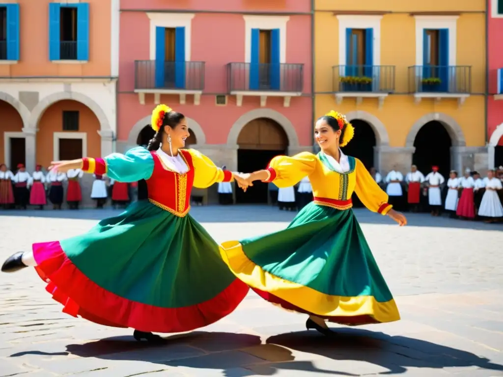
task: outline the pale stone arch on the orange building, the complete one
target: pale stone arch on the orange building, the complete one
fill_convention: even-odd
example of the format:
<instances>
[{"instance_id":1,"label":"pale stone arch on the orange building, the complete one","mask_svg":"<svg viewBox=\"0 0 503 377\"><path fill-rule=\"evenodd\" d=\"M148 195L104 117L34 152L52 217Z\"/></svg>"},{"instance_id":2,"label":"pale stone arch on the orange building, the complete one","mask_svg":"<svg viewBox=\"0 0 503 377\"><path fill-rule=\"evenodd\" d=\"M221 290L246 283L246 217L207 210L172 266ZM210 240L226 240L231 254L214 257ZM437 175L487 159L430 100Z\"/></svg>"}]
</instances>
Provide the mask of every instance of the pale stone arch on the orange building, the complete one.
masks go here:
<instances>
[{"instance_id":1,"label":"pale stone arch on the orange building, the complete one","mask_svg":"<svg viewBox=\"0 0 503 377\"><path fill-rule=\"evenodd\" d=\"M37 128L37 124L38 124L42 114L44 114L44 112L52 104L59 102L59 101L62 101L62 100L73 100L73 101L77 101L77 102L80 102L80 103L86 105L88 108L90 108L93 111L93 113L96 115L96 117L100 121L100 127L101 127L102 132L103 131L105 131L105 132L113 131L112 126L110 124L110 121L107 118L107 116L105 115L105 112L103 111L101 106L98 105L98 103L96 103L90 97L83 95L82 93L78 93L78 92L74 92L74 91L72 91L72 92L61 91L58 93L53 93L52 95L49 95L49 96L45 97L44 99L42 99L42 101L40 101L37 104L37 106L35 106L35 108L33 109L31 116L30 116L30 121L28 123L28 127L35 130Z\"/></svg>"}]
</instances>

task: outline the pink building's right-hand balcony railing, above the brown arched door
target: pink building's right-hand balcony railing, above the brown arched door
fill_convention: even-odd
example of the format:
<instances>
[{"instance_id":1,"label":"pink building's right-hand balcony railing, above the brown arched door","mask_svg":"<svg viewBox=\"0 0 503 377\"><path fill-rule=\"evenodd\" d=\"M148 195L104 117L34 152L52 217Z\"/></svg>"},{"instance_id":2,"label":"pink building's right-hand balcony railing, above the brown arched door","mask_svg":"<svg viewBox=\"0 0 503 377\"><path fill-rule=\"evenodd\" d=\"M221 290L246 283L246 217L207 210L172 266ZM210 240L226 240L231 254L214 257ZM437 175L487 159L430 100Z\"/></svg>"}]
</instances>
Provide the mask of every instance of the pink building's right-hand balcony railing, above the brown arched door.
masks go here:
<instances>
[{"instance_id":1,"label":"pink building's right-hand balcony railing, above the brown arched door","mask_svg":"<svg viewBox=\"0 0 503 377\"><path fill-rule=\"evenodd\" d=\"M227 64L227 80L229 92L300 93L304 88L304 64L229 63Z\"/></svg>"}]
</instances>

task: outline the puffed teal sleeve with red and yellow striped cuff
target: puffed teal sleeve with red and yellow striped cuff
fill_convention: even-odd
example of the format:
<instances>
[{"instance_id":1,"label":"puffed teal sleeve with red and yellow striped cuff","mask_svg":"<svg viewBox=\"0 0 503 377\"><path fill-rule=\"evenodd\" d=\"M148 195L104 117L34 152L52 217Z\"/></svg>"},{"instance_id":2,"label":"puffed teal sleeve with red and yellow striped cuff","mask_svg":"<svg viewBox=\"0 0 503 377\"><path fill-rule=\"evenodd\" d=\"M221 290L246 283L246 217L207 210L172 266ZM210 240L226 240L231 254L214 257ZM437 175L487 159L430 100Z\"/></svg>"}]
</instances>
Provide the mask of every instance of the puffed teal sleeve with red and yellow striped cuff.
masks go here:
<instances>
[{"instance_id":1,"label":"puffed teal sleeve with red and yellow striped cuff","mask_svg":"<svg viewBox=\"0 0 503 377\"><path fill-rule=\"evenodd\" d=\"M112 153L105 158L82 158L82 170L87 173L107 174L119 182L148 179L154 170L154 160L144 147L136 147L125 154Z\"/></svg>"}]
</instances>

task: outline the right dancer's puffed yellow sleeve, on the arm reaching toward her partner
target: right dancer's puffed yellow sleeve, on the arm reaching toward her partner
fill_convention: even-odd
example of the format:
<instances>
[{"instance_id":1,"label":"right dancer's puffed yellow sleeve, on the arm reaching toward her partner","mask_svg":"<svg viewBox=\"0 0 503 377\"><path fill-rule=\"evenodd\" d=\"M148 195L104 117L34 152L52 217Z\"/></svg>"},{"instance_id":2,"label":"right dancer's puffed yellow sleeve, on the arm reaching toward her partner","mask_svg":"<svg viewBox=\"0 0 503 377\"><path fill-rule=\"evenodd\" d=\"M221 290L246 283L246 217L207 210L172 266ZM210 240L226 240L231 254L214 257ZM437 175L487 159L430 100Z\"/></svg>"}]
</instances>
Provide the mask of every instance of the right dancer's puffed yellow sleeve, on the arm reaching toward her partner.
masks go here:
<instances>
[{"instance_id":1,"label":"right dancer's puffed yellow sleeve, on the arm reaching toward her partner","mask_svg":"<svg viewBox=\"0 0 503 377\"><path fill-rule=\"evenodd\" d=\"M316 167L316 156L309 152L302 152L295 156L274 157L267 171L269 178L264 182L274 182L278 187L290 187L298 183Z\"/></svg>"}]
</instances>

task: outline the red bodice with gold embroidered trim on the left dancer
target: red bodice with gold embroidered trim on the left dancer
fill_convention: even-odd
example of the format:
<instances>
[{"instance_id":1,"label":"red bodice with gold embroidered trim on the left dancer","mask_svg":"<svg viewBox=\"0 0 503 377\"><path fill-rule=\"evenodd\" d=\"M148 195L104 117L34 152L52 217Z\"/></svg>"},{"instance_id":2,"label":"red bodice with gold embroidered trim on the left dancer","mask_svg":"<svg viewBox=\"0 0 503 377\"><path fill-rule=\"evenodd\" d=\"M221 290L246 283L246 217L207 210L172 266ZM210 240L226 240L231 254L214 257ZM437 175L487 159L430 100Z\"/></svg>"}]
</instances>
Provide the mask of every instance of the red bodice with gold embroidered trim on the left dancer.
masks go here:
<instances>
[{"instance_id":1,"label":"red bodice with gold embroidered trim on the left dancer","mask_svg":"<svg viewBox=\"0 0 503 377\"><path fill-rule=\"evenodd\" d=\"M186 173L180 174L167 167L157 156L150 152L154 160L154 169L146 179L148 200L156 206L177 216L184 216L190 208L190 195L194 184L194 164L191 154L180 150L182 158L189 167Z\"/></svg>"}]
</instances>

